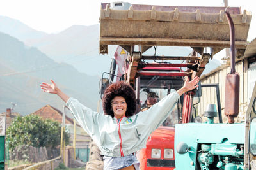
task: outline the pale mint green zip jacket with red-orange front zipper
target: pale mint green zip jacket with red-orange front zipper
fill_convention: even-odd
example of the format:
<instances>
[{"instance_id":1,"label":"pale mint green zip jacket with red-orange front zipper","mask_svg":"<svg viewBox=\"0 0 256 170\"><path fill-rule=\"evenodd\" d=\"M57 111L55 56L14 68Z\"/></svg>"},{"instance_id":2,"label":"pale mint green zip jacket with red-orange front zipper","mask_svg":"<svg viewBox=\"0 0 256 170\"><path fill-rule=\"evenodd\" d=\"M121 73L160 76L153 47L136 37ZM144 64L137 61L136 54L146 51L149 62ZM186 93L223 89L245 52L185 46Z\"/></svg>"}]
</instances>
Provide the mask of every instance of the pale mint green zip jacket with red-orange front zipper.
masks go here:
<instances>
[{"instance_id":1,"label":"pale mint green zip jacket with red-orange front zipper","mask_svg":"<svg viewBox=\"0 0 256 170\"><path fill-rule=\"evenodd\" d=\"M102 155L122 157L146 148L148 137L168 117L179 97L177 92L172 92L150 109L132 117L124 116L119 122L115 117L92 111L72 97L66 105L99 146Z\"/></svg>"}]
</instances>

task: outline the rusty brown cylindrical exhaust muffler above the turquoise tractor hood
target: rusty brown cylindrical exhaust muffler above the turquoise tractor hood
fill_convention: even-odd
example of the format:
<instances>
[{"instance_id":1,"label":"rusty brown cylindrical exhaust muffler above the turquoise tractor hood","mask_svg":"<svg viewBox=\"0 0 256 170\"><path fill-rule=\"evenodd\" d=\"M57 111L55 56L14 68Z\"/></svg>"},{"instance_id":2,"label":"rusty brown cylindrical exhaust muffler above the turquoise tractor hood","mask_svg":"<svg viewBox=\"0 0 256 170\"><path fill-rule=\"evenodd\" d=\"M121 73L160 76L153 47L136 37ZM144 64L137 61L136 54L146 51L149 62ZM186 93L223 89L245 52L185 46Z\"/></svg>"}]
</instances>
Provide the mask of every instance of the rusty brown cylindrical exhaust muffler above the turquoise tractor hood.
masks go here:
<instances>
[{"instance_id":1,"label":"rusty brown cylindrical exhaust muffler above the turquoise tractor hood","mask_svg":"<svg viewBox=\"0 0 256 170\"><path fill-rule=\"evenodd\" d=\"M228 123L234 123L234 118L239 113L239 74L228 74L225 85L225 110Z\"/></svg>"}]
</instances>

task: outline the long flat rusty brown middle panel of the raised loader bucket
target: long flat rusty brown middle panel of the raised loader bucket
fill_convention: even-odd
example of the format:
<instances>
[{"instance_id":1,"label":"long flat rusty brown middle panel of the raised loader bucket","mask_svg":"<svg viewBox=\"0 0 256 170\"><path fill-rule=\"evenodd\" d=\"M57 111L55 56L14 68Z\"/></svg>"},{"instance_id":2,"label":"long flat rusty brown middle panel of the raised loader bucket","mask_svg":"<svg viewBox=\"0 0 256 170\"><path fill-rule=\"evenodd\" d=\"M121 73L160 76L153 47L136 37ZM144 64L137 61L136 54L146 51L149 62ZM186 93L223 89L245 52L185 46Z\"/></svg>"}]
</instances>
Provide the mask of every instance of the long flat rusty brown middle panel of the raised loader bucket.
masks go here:
<instances>
[{"instance_id":1,"label":"long flat rusty brown middle panel of the raised loader bucket","mask_svg":"<svg viewBox=\"0 0 256 170\"><path fill-rule=\"evenodd\" d=\"M118 14L116 14L118 15ZM148 14L149 15L149 14ZM181 15L181 14L180 14ZM217 16L211 22L189 22L189 17L184 15L179 22L170 20L150 20L150 18L138 18L138 20L100 20L100 38L172 38L172 39L198 39L229 41L228 24L216 23ZM237 16L237 19L239 16ZM187 20L188 19L188 20ZM236 41L246 41L248 36L248 24L235 24ZM124 39L125 40L125 39ZM148 44L151 45L151 44Z\"/></svg>"}]
</instances>

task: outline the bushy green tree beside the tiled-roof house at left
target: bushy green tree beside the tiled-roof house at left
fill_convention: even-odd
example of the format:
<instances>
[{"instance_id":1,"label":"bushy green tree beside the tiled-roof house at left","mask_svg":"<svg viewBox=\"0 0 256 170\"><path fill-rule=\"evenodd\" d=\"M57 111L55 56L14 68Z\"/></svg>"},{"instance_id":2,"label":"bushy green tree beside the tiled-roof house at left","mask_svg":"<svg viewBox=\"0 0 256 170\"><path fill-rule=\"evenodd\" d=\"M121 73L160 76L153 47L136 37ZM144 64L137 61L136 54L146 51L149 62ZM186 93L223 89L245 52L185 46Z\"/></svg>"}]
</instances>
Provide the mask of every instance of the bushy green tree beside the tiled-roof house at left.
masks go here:
<instances>
[{"instance_id":1,"label":"bushy green tree beside the tiled-roof house at left","mask_svg":"<svg viewBox=\"0 0 256 170\"><path fill-rule=\"evenodd\" d=\"M66 131L65 143L69 143L70 134ZM22 159L28 159L26 148L47 147L56 148L61 141L61 125L51 119L43 120L38 115L27 115L16 117L10 127L6 129L6 140L9 144L10 152L21 150Z\"/></svg>"}]
</instances>

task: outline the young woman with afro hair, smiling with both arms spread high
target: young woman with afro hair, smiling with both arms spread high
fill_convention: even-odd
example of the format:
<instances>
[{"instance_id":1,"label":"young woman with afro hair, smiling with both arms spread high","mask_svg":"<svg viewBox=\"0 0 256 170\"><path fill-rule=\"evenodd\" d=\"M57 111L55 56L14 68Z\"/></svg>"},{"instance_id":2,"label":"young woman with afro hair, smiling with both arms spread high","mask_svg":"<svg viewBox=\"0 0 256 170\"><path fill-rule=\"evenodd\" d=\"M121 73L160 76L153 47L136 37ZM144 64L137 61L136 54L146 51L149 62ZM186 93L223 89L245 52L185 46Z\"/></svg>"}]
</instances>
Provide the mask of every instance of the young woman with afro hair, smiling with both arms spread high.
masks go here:
<instances>
[{"instance_id":1,"label":"young woman with afro hair, smiling with both arms spread high","mask_svg":"<svg viewBox=\"0 0 256 170\"><path fill-rule=\"evenodd\" d=\"M124 82L111 84L102 99L104 114L92 111L77 99L63 93L54 81L42 83L44 92L57 94L72 111L77 122L92 137L104 155L104 169L139 169L140 162L134 152L146 147L150 134L163 123L179 97L198 87L199 78L189 81L184 86L164 97L150 109L136 111L134 90Z\"/></svg>"}]
</instances>

